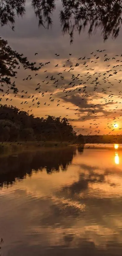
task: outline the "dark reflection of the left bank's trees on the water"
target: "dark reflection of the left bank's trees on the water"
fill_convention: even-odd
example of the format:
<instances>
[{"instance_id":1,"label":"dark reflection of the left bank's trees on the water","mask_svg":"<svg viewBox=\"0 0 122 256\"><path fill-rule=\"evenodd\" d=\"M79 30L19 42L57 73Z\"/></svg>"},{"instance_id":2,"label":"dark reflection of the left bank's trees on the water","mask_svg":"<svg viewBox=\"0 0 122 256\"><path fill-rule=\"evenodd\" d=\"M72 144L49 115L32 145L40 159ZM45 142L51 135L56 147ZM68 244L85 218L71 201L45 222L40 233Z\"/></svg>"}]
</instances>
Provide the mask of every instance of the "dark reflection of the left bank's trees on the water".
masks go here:
<instances>
[{"instance_id":1,"label":"dark reflection of the left bank's trees on the water","mask_svg":"<svg viewBox=\"0 0 122 256\"><path fill-rule=\"evenodd\" d=\"M1 157L0 161L0 186L7 186L15 182L15 179L23 179L26 175L32 175L32 171L43 171L48 174L54 171L66 171L71 164L76 147L64 149L49 149L36 152L19 153L17 157Z\"/></svg>"}]
</instances>

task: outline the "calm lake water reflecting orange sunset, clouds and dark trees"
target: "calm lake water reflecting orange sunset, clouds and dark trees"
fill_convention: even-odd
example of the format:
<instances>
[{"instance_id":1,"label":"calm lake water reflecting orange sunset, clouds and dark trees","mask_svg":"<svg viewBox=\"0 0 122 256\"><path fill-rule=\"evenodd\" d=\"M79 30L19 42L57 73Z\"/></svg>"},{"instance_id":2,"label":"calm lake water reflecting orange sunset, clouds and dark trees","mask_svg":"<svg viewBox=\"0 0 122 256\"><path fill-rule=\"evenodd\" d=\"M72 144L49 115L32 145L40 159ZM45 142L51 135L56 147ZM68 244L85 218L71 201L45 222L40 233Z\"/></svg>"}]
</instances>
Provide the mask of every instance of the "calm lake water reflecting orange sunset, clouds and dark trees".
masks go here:
<instances>
[{"instance_id":1,"label":"calm lake water reflecting orange sunset, clouds and dark trees","mask_svg":"<svg viewBox=\"0 0 122 256\"><path fill-rule=\"evenodd\" d=\"M0 158L1 255L122 255L122 150Z\"/></svg>"}]
</instances>

